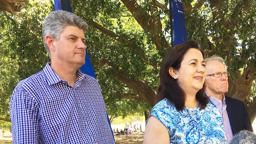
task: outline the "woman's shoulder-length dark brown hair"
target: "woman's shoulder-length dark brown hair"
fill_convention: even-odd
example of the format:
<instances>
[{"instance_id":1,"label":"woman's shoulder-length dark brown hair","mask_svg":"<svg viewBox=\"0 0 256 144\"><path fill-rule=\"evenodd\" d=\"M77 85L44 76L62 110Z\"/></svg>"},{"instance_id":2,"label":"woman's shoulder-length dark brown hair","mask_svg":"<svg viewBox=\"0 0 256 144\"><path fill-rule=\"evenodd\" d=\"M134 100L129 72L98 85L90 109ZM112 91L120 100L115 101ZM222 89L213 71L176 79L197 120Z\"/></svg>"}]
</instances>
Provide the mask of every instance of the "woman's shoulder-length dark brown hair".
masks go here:
<instances>
[{"instance_id":1,"label":"woman's shoulder-length dark brown hair","mask_svg":"<svg viewBox=\"0 0 256 144\"><path fill-rule=\"evenodd\" d=\"M184 108L186 95L178 85L177 79L174 79L169 74L169 68L173 67L173 69L179 70L181 61L190 48L200 50L204 58L203 50L200 49L199 45L194 41L188 41L171 48L165 55L160 68L160 84L156 100L159 102L162 99L167 98L175 105L177 110L182 110ZM205 95L205 84L203 84L203 88L197 92L196 99L199 102L200 109L204 109L209 102L208 96Z\"/></svg>"}]
</instances>

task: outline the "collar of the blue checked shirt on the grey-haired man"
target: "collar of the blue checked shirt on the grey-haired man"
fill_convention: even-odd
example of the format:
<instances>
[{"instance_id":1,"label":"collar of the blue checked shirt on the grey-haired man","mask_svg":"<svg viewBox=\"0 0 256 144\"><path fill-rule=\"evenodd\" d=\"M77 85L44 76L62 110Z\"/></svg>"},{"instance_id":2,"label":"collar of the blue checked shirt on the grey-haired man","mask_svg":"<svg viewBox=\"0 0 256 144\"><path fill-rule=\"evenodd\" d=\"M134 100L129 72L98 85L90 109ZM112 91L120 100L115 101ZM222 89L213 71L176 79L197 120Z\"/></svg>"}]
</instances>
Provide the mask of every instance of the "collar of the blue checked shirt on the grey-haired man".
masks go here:
<instances>
[{"instance_id":1,"label":"collar of the blue checked shirt on the grey-haired man","mask_svg":"<svg viewBox=\"0 0 256 144\"><path fill-rule=\"evenodd\" d=\"M51 65L51 62L48 62L43 69L48 85L52 85L52 84L64 81L53 71L50 65ZM78 81L81 81L84 78L86 78L85 74L83 74L79 69L76 71L76 75L77 75Z\"/></svg>"}]
</instances>

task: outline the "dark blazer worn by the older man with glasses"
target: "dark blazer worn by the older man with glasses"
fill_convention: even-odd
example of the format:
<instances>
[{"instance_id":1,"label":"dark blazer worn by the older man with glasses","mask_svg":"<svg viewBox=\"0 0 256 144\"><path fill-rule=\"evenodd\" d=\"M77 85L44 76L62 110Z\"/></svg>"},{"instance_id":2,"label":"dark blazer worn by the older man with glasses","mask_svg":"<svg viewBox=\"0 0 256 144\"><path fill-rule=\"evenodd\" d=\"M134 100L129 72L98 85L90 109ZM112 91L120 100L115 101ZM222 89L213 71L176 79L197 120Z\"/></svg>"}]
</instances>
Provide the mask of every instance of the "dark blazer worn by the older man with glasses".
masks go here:
<instances>
[{"instance_id":1,"label":"dark blazer worn by the older man with glasses","mask_svg":"<svg viewBox=\"0 0 256 144\"><path fill-rule=\"evenodd\" d=\"M244 103L228 96L225 96L225 102L233 135L244 129L253 132L252 123Z\"/></svg>"}]
</instances>

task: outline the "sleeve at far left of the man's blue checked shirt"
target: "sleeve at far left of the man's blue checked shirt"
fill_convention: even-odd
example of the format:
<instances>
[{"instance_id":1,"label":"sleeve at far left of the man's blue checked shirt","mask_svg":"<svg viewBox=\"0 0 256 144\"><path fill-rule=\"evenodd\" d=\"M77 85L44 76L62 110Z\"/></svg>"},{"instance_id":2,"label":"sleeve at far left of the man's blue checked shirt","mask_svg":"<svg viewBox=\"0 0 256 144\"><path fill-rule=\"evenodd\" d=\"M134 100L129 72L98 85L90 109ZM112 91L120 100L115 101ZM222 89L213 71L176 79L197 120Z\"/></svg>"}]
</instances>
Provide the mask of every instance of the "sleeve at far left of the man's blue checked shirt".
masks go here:
<instances>
[{"instance_id":1,"label":"sleeve at far left of the man's blue checked shirt","mask_svg":"<svg viewBox=\"0 0 256 144\"><path fill-rule=\"evenodd\" d=\"M38 107L34 98L17 86L10 100L13 144L39 143Z\"/></svg>"}]
</instances>

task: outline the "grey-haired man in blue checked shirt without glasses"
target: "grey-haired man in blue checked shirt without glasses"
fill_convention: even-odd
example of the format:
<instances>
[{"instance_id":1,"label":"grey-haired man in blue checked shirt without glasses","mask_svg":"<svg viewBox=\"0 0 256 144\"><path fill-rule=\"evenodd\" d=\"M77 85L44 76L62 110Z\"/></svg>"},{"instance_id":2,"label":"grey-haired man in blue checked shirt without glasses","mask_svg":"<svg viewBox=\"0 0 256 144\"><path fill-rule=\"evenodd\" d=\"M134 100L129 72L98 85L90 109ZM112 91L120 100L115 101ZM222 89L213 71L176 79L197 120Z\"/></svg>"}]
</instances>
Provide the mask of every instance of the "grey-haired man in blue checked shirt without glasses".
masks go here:
<instances>
[{"instance_id":1,"label":"grey-haired man in blue checked shirt without glasses","mask_svg":"<svg viewBox=\"0 0 256 144\"><path fill-rule=\"evenodd\" d=\"M86 31L83 19L70 12L54 11L45 19L51 62L13 91L12 143L115 143L99 84L78 69L85 63Z\"/></svg>"}]
</instances>

